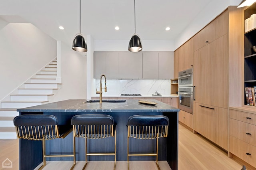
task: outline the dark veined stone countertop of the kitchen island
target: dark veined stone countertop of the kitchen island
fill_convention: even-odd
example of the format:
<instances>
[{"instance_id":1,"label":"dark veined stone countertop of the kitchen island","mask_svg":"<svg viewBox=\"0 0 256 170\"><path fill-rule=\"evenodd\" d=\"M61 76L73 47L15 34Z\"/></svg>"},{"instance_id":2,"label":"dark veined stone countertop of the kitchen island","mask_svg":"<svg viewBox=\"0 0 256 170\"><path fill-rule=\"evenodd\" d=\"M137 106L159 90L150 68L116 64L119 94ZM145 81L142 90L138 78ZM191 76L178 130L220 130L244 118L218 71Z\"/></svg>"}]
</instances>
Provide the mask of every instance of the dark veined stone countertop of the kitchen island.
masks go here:
<instances>
[{"instance_id":1,"label":"dark veined stone countertop of the kitchen island","mask_svg":"<svg viewBox=\"0 0 256 170\"><path fill-rule=\"evenodd\" d=\"M178 112L180 109L157 100L156 105L139 103L138 100L126 100L121 103L85 103L88 99L70 99L44 105L17 109L19 112Z\"/></svg>"}]
</instances>

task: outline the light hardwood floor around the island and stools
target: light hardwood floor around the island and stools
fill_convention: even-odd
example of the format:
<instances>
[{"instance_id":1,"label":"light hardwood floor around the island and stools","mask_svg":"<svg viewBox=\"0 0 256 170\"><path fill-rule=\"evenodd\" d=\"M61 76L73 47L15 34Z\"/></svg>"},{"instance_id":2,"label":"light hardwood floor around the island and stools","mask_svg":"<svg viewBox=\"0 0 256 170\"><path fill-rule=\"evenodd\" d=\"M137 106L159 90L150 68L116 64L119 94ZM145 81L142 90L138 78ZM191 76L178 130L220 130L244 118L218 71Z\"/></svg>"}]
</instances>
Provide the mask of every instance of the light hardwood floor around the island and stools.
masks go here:
<instances>
[{"instance_id":1,"label":"light hardwood floor around the island and stools","mask_svg":"<svg viewBox=\"0 0 256 170\"><path fill-rule=\"evenodd\" d=\"M13 168L3 168L6 170L18 170L18 139L0 140L0 169L2 162L9 158ZM241 170L242 164L228 158L227 153L205 140L199 134L179 125L179 170ZM83 161L78 161L74 170L82 169ZM47 162L44 170L69 169L72 161L51 161ZM92 161L88 162L88 170L112 170L112 161ZM157 170L153 161L131 161L130 170ZM166 161L159 161L161 170L170 170ZM118 161L116 170L126 170L127 162Z\"/></svg>"}]
</instances>

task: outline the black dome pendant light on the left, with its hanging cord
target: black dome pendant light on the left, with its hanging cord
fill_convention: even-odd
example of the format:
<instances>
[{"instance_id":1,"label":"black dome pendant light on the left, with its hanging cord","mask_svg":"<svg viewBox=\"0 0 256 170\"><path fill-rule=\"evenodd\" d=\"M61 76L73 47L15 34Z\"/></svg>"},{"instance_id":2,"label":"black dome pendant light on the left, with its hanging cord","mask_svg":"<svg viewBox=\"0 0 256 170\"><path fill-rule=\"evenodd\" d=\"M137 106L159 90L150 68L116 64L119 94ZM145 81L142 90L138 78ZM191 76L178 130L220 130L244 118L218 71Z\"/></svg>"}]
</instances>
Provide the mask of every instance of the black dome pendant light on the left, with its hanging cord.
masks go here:
<instances>
[{"instance_id":1,"label":"black dome pendant light on the left, with its hanging cord","mask_svg":"<svg viewBox=\"0 0 256 170\"><path fill-rule=\"evenodd\" d=\"M76 37L73 40L72 49L74 49L75 51L78 51L78 52L86 52L87 44L86 44L86 41L84 40L84 37L81 34L81 0L80 0L80 13L79 14L80 14L80 24L79 24L80 32L79 32L79 34L76 34Z\"/></svg>"}]
</instances>

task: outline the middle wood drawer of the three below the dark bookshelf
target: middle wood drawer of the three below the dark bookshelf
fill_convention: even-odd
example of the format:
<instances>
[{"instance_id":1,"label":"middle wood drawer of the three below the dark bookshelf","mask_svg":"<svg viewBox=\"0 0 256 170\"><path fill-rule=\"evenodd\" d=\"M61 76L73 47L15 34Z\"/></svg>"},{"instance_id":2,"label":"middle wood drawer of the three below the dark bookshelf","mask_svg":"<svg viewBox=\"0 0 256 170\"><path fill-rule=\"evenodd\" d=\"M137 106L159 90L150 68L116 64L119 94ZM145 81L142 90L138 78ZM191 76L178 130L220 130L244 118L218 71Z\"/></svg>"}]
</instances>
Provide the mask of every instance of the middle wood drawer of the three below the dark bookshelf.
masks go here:
<instances>
[{"instance_id":1,"label":"middle wood drawer of the three below the dark bookshelf","mask_svg":"<svg viewBox=\"0 0 256 170\"><path fill-rule=\"evenodd\" d=\"M230 135L256 146L256 126L230 119Z\"/></svg>"}]
</instances>

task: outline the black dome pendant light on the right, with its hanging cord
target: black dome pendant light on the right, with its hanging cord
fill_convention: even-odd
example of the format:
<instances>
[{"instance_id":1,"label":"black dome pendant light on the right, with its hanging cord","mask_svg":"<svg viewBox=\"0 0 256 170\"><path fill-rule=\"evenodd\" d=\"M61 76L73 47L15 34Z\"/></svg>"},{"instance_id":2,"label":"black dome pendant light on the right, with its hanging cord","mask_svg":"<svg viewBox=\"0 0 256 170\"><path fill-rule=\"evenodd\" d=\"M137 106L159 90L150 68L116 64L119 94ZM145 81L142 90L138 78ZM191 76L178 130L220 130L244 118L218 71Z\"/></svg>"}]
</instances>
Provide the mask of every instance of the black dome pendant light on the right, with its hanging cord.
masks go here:
<instances>
[{"instance_id":1,"label":"black dome pendant light on the right, with its hanging cord","mask_svg":"<svg viewBox=\"0 0 256 170\"><path fill-rule=\"evenodd\" d=\"M140 37L136 34L136 17L135 17L135 0L134 0L134 34L129 42L128 50L131 52L139 52L142 50L142 43Z\"/></svg>"}]
</instances>

